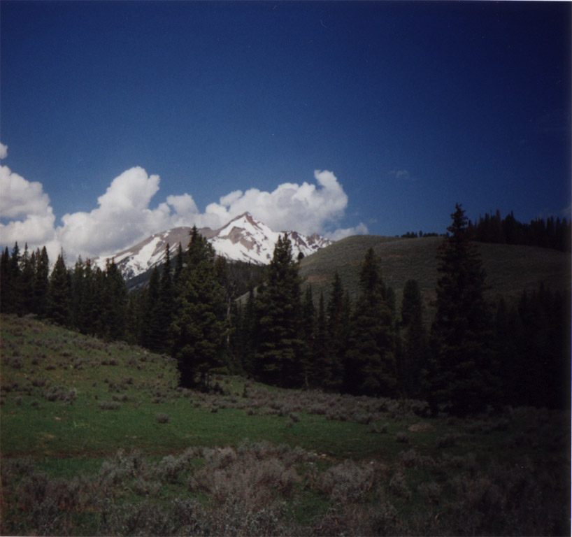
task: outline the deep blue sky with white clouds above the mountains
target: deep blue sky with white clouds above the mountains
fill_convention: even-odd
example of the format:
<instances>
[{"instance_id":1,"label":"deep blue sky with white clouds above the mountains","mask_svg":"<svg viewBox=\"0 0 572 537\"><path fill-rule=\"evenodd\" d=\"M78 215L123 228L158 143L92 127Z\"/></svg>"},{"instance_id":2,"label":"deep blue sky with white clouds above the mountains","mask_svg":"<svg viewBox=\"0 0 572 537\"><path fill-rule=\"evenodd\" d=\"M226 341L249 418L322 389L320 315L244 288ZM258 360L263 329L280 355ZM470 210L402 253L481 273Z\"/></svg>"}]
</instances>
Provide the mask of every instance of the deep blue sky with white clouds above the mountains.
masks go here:
<instances>
[{"instance_id":1,"label":"deep blue sky with white clouds above the mountains","mask_svg":"<svg viewBox=\"0 0 572 537\"><path fill-rule=\"evenodd\" d=\"M2 244L569 218L571 3L3 0L0 24Z\"/></svg>"}]
</instances>

